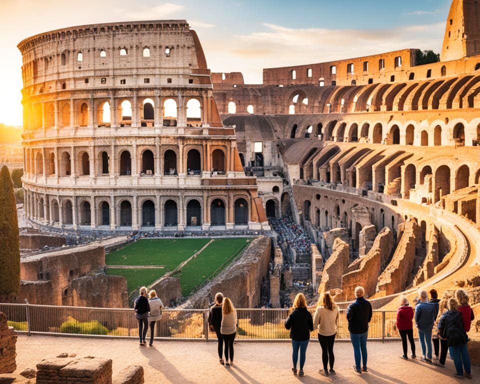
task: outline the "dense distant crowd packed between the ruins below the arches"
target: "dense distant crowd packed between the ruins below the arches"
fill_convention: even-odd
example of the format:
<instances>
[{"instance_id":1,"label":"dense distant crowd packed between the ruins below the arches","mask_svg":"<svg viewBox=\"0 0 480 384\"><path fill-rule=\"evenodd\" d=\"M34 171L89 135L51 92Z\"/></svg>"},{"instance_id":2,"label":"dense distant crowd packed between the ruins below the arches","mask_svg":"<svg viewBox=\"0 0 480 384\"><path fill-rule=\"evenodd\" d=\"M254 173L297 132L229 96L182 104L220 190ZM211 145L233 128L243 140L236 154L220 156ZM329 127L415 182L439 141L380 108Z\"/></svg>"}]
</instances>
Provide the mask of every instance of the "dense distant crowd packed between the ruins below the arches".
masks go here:
<instances>
[{"instance_id":1,"label":"dense distant crowd packed between the ruins below the arches","mask_svg":"<svg viewBox=\"0 0 480 384\"><path fill-rule=\"evenodd\" d=\"M301 225L295 224L291 216L270 218L272 229L278 234L278 242L295 249L297 253L310 253L311 240Z\"/></svg>"}]
</instances>

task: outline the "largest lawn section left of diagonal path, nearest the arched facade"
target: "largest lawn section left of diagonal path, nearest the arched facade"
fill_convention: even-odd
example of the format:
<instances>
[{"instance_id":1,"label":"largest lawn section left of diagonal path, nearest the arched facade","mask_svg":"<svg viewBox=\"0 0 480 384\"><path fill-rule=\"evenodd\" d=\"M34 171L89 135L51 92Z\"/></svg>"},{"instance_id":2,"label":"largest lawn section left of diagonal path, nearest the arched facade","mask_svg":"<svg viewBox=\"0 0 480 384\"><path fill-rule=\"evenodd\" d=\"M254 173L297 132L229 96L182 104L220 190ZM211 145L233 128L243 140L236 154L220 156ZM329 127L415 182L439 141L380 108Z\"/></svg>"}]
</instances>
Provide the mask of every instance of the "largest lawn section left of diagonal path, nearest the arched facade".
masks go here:
<instances>
[{"instance_id":1,"label":"largest lawn section left of diagonal path, nearest the arched facade","mask_svg":"<svg viewBox=\"0 0 480 384\"><path fill-rule=\"evenodd\" d=\"M141 239L108 253L107 265L165 265L174 269L180 262L200 250L209 238Z\"/></svg>"}]
</instances>

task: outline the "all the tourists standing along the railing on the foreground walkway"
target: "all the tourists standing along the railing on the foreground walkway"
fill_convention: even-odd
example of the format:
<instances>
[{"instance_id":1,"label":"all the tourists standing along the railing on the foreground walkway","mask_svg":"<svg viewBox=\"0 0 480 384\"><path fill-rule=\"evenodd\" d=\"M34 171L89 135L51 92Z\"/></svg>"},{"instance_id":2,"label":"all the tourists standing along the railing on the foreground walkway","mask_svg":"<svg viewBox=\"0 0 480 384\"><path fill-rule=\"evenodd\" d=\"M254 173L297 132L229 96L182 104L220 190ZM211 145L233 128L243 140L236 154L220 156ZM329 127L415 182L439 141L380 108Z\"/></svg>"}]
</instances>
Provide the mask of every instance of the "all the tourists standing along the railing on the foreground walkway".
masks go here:
<instances>
[{"instance_id":1,"label":"all the tourists standing along the railing on the foreground walkway","mask_svg":"<svg viewBox=\"0 0 480 384\"><path fill-rule=\"evenodd\" d=\"M449 352L455 366L453 376L471 379L467 332L470 330L474 314L468 304L468 295L463 289L456 290L454 294L445 291L441 299L438 299L435 289L431 289L429 294L430 296L425 290L420 290L418 297L414 300L415 308L410 306L406 296L400 296L396 312L396 327L401 337L403 352L400 357L409 360L408 340L410 358L416 359L413 338L413 326L415 326L421 348L420 361L444 367ZM353 370L358 374L368 372L368 326L373 313L370 302L363 296L363 287L357 286L355 300L346 309L348 331L353 347ZM209 329L216 333L220 364L230 367L233 364L233 343L237 330L236 310L231 300L223 297L221 292L215 294L214 300L209 308L208 325ZM140 295L134 303L140 345L145 345L148 323L150 323L149 345L152 345L154 324L161 316L161 308L163 308L163 304L156 297L156 292L151 290L147 295L146 287L141 287ZM335 361L333 346L338 318L338 306L329 292L320 297L313 316L308 310L303 293L295 296L291 311L285 321L285 328L290 331L293 365L291 370L294 375L304 375L306 350L310 341L310 332L314 329L317 330L318 342L321 347L322 369L320 368L318 372L326 376L336 374L333 368Z\"/></svg>"}]
</instances>

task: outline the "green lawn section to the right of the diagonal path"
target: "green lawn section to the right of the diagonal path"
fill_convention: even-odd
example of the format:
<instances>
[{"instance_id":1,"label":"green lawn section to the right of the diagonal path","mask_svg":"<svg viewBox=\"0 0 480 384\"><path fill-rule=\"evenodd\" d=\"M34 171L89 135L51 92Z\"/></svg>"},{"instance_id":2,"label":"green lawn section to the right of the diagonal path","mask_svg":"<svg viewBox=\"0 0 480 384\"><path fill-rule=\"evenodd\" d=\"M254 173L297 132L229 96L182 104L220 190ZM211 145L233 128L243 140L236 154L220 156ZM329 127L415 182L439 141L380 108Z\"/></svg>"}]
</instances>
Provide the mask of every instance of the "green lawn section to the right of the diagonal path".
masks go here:
<instances>
[{"instance_id":1,"label":"green lawn section to the right of the diagonal path","mask_svg":"<svg viewBox=\"0 0 480 384\"><path fill-rule=\"evenodd\" d=\"M248 238L216 238L197 257L188 261L181 272L175 274L180 278L181 293L188 296L198 285L203 283L237 251L241 250ZM225 263L225 267L228 263Z\"/></svg>"}]
</instances>

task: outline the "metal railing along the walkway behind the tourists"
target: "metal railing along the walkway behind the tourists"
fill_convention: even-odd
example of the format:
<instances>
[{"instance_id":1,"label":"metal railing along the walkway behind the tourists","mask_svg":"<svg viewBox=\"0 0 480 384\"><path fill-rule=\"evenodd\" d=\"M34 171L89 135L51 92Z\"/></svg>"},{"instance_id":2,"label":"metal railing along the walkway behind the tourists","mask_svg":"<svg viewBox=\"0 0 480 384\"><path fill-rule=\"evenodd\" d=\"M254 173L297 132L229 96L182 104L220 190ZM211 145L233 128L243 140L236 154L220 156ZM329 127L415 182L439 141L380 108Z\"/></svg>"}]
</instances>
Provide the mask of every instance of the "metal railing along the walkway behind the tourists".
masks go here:
<instances>
[{"instance_id":1,"label":"metal railing along the walkway behind the tourists","mask_svg":"<svg viewBox=\"0 0 480 384\"><path fill-rule=\"evenodd\" d=\"M313 312L314 308L310 308ZM136 336L138 324L133 309L90 308L36 304L0 303L0 311L8 318L8 325L28 335L38 333L77 334L97 336ZM289 338L284 322L288 309L244 309L237 311L237 338L273 340ZM206 309L165 309L155 326L155 337L171 339L215 338L209 331ZM396 311L374 310L368 337L385 340L399 338L395 325ZM316 330L311 332L316 337ZM348 339L348 322L340 310L336 337Z\"/></svg>"}]
</instances>

